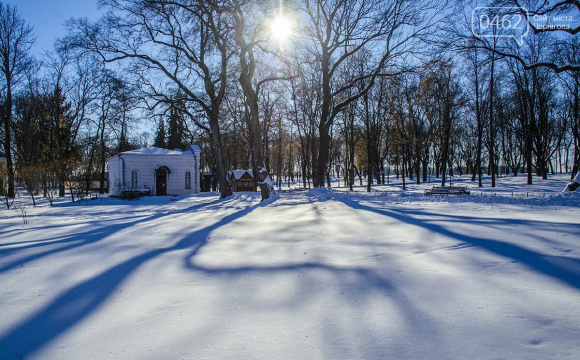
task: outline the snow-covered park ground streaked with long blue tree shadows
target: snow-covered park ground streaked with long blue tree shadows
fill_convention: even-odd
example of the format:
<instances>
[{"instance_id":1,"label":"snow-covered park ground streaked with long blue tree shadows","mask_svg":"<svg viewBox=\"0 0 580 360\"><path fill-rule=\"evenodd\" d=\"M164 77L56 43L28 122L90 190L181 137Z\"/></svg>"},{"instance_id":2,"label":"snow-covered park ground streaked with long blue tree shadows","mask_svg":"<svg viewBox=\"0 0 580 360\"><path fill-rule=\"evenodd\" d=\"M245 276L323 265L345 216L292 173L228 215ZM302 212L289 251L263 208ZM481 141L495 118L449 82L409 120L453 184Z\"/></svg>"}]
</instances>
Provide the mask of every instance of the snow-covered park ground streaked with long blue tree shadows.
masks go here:
<instances>
[{"instance_id":1,"label":"snow-covered park ground streaked with long blue tree shadows","mask_svg":"<svg viewBox=\"0 0 580 360\"><path fill-rule=\"evenodd\" d=\"M578 359L568 179L0 210L0 359Z\"/></svg>"}]
</instances>

